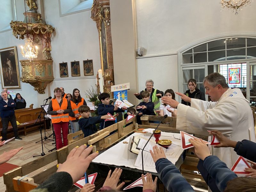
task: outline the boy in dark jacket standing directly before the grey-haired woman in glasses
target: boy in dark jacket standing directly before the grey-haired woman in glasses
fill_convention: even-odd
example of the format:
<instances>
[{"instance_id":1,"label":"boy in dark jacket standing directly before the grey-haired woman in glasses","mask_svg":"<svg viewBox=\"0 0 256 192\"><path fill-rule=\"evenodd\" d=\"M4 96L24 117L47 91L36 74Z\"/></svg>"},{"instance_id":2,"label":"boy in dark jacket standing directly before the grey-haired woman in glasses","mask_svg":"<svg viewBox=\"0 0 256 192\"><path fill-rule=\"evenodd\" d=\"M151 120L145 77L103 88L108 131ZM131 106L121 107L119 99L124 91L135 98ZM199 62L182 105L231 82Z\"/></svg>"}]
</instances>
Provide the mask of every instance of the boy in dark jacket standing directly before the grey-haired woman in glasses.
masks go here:
<instances>
[{"instance_id":1,"label":"boy in dark jacket standing directly before the grey-haired woman in glasses","mask_svg":"<svg viewBox=\"0 0 256 192\"><path fill-rule=\"evenodd\" d=\"M155 104L149 101L149 95L150 95L149 92L143 91L141 93L143 102L140 102L139 105L136 106L136 110L139 112L137 115L137 123L140 125L141 125L140 117L142 115L156 115L154 112ZM150 121L150 123L153 123L153 122Z\"/></svg>"}]
</instances>

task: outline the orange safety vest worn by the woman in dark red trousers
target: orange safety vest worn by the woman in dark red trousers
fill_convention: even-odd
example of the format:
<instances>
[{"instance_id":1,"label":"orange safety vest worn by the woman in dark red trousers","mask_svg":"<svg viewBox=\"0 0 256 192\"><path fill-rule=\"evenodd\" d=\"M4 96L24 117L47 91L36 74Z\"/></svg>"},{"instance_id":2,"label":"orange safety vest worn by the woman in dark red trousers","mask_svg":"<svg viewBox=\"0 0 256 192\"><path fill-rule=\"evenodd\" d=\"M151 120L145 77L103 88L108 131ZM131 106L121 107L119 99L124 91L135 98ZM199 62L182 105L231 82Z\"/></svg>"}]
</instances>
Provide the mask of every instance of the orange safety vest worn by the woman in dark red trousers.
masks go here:
<instances>
[{"instance_id":1,"label":"orange safety vest worn by the woman in dark red trousers","mask_svg":"<svg viewBox=\"0 0 256 192\"><path fill-rule=\"evenodd\" d=\"M68 100L66 98L62 98L62 103L61 106L59 105L58 101L56 99L52 99L52 109L53 111L58 111L58 110L65 110L68 108ZM52 123L60 123L62 122L69 122L68 119L68 113L66 114L57 114L57 115L52 115Z\"/></svg>"}]
</instances>

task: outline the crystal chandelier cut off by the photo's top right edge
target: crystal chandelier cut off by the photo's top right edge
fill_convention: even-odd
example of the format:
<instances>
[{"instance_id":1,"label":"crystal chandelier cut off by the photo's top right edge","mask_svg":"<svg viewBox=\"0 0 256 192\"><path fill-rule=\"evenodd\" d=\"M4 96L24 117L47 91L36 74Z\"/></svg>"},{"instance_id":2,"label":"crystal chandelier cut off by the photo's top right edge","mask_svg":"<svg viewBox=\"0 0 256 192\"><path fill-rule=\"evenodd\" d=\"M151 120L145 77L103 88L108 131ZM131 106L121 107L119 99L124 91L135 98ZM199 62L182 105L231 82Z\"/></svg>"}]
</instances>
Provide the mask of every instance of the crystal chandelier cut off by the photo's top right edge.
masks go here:
<instances>
[{"instance_id":1,"label":"crystal chandelier cut off by the photo's top right edge","mask_svg":"<svg viewBox=\"0 0 256 192\"><path fill-rule=\"evenodd\" d=\"M235 12L235 15L238 15L238 12L247 5L251 5L251 0L221 0L222 9L226 8L230 11L233 11Z\"/></svg>"}]
</instances>

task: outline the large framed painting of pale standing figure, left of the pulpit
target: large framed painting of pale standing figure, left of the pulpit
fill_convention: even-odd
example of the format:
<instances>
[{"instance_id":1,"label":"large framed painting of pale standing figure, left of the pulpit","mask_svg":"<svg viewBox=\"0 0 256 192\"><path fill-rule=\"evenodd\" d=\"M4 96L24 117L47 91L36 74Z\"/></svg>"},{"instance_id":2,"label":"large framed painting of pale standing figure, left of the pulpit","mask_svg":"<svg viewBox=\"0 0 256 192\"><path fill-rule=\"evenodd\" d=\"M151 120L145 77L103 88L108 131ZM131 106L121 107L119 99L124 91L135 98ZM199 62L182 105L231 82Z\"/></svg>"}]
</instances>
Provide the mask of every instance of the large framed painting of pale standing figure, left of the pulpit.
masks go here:
<instances>
[{"instance_id":1,"label":"large framed painting of pale standing figure, left of the pulpit","mask_svg":"<svg viewBox=\"0 0 256 192\"><path fill-rule=\"evenodd\" d=\"M16 46L0 49L2 88L20 89L20 72Z\"/></svg>"}]
</instances>

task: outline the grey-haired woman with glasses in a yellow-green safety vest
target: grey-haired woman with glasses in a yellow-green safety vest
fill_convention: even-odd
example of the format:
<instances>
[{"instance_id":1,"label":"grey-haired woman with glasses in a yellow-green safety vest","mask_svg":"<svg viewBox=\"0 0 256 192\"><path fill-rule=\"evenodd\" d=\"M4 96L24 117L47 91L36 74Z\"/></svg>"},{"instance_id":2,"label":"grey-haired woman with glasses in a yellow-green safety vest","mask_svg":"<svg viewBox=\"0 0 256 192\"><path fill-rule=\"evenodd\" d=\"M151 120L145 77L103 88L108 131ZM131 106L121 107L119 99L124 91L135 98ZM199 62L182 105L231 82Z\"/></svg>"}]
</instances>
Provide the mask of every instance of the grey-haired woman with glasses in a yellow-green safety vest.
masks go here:
<instances>
[{"instance_id":1,"label":"grey-haired woman with glasses in a yellow-green safety vest","mask_svg":"<svg viewBox=\"0 0 256 192\"><path fill-rule=\"evenodd\" d=\"M159 98L164 96L164 92L159 91L157 89L154 89L154 81L152 79L148 79L146 81L146 89L143 91L149 92L149 101L152 101L155 104L154 111L159 110L160 107L160 101ZM134 95L137 97L137 99L142 99L141 93L134 93Z\"/></svg>"}]
</instances>

